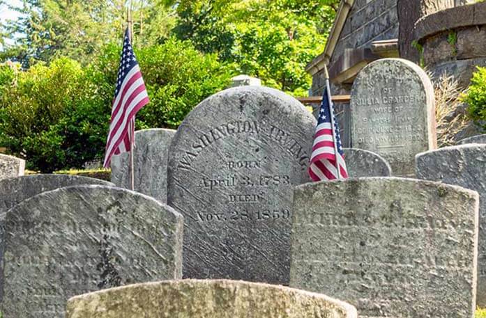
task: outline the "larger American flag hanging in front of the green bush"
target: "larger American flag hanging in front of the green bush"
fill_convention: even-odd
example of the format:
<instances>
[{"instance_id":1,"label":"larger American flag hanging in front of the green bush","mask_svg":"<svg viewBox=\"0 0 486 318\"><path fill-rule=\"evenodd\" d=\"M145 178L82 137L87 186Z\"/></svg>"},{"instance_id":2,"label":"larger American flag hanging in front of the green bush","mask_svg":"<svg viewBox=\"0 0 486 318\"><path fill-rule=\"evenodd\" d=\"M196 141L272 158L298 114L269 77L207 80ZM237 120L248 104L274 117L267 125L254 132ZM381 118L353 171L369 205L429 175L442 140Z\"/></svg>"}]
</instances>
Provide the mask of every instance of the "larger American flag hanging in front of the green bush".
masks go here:
<instances>
[{"instance_id":1,"label":"larger American flag hanging in front of the green bush","mask_svg":"<svg viewBox=\"0 0 486 318\"><path fill-rule=\"evenodd\" d=\"M115 97L112 106L112 121L106 143L105 168L109 167L114 154L130 152L135 135L135 114L149 103L142 72L130 44L128 29L123 40Z\"/></svg>"}]
</instances>

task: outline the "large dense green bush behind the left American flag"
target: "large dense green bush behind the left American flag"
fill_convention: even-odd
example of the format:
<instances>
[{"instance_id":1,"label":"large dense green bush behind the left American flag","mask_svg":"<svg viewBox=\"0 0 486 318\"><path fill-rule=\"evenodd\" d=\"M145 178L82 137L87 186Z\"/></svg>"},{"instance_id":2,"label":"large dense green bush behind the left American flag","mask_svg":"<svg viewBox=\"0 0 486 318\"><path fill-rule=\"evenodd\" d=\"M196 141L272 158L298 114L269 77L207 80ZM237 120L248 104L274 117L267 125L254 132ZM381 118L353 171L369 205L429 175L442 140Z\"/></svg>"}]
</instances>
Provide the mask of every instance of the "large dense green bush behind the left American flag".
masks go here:
<instances>
[{"instance_id":1,"label":"large dense green bush behind the left American flag","mask_svg":"<svg viewBox=\"0 0 486 318\"><path fill-rule=\"evenodd\" d=\"M108 45L86 67L69 58L18 74L0 67L0 146L43 173L102 158L120 49ZM135 54L151 100L137 115L137 129L177 127L229 83L217 56L199 53L189 42L171 39Z\"/></svg>"}]
</instances>

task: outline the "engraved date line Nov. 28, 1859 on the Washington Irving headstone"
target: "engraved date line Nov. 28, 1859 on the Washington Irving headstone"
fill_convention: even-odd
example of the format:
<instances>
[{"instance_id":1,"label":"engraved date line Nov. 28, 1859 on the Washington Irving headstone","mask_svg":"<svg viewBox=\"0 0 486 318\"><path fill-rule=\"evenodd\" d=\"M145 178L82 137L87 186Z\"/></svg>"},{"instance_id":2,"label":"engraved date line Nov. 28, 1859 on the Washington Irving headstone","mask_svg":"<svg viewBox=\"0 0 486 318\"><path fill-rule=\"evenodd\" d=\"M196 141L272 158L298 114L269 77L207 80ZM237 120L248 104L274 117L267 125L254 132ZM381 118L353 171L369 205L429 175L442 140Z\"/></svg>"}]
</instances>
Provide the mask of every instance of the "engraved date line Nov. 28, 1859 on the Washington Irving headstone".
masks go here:
<instances>
[{"instance_id":1,"label":"engraved date line Nov. 28, 1859 on the Washington Irving headstone","mask_svg":"<svg viewBox=\"0 0 486 318\"><path fill-rule=\"evenodd\" d=\"M196 212L198 222L224 222L224 221L266 221L266 220L289 220L289 209L266 209L263 211L227 211L222 213L215 212Z\"/></svg>"}]
</instances>

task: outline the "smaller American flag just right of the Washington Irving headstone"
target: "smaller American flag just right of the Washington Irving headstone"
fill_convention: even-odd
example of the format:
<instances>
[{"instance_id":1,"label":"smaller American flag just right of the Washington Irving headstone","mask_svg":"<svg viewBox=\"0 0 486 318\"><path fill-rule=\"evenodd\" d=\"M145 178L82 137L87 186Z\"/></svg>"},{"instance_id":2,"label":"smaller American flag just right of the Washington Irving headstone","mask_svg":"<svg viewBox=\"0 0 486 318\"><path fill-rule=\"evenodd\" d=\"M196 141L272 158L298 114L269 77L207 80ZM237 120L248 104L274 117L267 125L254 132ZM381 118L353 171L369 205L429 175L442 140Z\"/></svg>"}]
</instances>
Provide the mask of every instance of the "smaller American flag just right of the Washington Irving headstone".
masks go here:
<instances>
[{"instance_id":1,"label":"smaller American flag just right of the Washington Irving headstone","mask_svg":"<svg viewBox=\"0 0 486 318\"><path fill-rule=\"evenodd\" d=\"M307 170L313 181L347 179L348 177L339 127L334 116L334 106L329 92L329 80L326 79L326 88L322 97L312 155ZM332 121L331 116L333 118ZM333 129L331 128L333 126L332 122L334 122ZM335 155L336 152L337 156ZM336 157L340 168L339 175L337 174Z\"/></svg>"}]
</instances>

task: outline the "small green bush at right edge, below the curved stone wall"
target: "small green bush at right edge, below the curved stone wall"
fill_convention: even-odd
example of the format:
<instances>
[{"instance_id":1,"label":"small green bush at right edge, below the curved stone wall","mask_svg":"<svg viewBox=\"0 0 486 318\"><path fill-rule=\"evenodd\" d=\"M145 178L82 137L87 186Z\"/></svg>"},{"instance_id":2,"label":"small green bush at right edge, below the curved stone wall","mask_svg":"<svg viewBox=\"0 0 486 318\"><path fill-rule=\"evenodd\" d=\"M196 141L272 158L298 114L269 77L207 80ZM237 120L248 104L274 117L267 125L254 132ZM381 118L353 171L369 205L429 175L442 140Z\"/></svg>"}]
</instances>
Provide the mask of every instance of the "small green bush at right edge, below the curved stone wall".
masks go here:
<instances>
[{"instance_id":1,"label":"small green bush at right edge, below the curved stone wall","mask_svg":"<svg viewBox=\"0 0 486 318\"><path fill-rule=\"evenodd\" d=\"M478 67L478 71L474 72L464 102L469 104L468 113L473 120L486 120L486 67ZM486 129L486 125L483 125L483 129Z\"/></svg>"}]
</instances>

